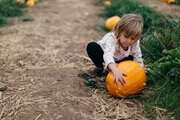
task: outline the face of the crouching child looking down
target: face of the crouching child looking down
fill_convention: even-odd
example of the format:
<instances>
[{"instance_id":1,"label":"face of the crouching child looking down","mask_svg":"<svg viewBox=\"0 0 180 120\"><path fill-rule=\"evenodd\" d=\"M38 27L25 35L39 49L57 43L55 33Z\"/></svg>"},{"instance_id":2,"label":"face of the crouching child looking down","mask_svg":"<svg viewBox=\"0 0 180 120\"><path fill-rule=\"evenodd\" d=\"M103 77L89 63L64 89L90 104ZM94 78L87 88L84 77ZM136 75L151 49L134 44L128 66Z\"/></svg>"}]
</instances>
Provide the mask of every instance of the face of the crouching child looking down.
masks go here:
<instances>
[{"instance_id":1,"label":"face of the crouching child looking down","mask_svg":"<svg viewBox=\"0 0 180 120\"><path fill-rule=\"evenodd\" d=\"M121 35L119 37L119 42L124 50L127 50L129 46L135 44L136 41L137 40L135 40L131 37L127 37L124 32L121 33Z\"/></svg>"}]
</instances>

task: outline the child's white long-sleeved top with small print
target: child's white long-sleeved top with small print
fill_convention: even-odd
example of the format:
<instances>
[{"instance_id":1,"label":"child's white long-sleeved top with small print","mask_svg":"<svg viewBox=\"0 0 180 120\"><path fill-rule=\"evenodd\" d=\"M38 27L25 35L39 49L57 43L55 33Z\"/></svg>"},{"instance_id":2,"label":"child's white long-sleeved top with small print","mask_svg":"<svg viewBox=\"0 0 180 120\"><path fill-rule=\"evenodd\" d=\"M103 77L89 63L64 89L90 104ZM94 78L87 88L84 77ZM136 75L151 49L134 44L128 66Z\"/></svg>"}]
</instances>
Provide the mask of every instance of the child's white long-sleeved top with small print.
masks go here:
<instances>
[{"instance_id":1,"label":"child's white long-sleeved top with small print","mask_svg":"<svg viewBox=\"0 0 180 120\"><path fill-rule=\"evenodd\" d=\"M107 33L102 40L98 41L97 43L104 51L103 58L105 68L107 68L109 63L115 63L115 61L122 60L129 55L133 56L135 62L138 62L141 66L144 66L139 40L134 45L129 46L127 51L123 50L112 32Z\"/></svg>"}]
</instances>

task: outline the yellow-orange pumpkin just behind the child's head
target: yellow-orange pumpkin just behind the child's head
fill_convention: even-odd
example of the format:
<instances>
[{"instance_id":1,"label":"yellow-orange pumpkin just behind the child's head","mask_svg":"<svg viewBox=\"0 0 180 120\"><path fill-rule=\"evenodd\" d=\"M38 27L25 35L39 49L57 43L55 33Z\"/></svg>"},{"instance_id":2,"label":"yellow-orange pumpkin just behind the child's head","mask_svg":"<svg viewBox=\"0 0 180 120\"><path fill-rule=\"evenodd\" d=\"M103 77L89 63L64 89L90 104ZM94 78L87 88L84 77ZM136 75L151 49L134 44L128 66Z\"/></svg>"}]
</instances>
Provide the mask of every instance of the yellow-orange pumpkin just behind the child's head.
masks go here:
<instances>
[{"instance_id":1,"label":"yellow-orange pumpkin just behind the child's head","mask_svg":"<svg viewBox=\"0 0 180 120\"><path fill-rule=\"evenodd\" d=\"M105 26L108 30L112 30L112 28L119 22L121 18L119 16L113 16L106 20Z\"/></svg>"}]
</instances>

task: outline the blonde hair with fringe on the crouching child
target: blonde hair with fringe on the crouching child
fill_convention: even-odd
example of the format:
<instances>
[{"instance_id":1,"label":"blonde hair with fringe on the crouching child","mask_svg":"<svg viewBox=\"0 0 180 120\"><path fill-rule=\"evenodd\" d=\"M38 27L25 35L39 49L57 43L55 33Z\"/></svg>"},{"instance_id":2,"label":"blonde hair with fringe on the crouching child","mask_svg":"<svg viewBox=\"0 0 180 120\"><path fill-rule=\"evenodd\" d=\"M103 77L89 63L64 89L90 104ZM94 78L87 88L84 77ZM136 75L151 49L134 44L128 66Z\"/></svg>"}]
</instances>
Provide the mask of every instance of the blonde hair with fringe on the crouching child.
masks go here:
<instances>
[{"instance_id":1,"label":"blonde hair with fringe on the crouching child","mask_svg":"<svg viewBox=\"0 0 180 120\"><path fill-rule=\"evenodd\" d=\"M122 32L125 36L138 40L143 30L143 19L138 14L123 15L121 20L113 28L113 32L118 39Z\"/></svg>"}]
</instances>

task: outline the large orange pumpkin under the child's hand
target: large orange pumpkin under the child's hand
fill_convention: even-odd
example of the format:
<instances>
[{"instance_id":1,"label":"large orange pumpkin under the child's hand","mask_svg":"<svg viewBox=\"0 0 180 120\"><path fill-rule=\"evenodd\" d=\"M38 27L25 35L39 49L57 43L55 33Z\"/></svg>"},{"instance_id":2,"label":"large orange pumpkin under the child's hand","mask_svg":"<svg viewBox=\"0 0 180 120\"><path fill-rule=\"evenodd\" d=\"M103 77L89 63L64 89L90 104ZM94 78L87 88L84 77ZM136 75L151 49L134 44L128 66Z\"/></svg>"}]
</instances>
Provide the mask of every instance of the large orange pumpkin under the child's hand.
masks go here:
<instances>
[{"instance_id":1,"label":"large orange pumpkin under the child's hand","mask_svg":"<svg viewBox=\"0 0 180 120\"><path fill-rule=\"evenodd\" d=\"M110 94L117 98L125 98L139 93L146 85L146 73L144 68L137 62L124 61L117 64L117 67L127 76L123 76L126 84L122 86L119 81L117 86L113 81L113 74L109 72L106 77L106 86Z\"/></svg>"}]
</instances>

